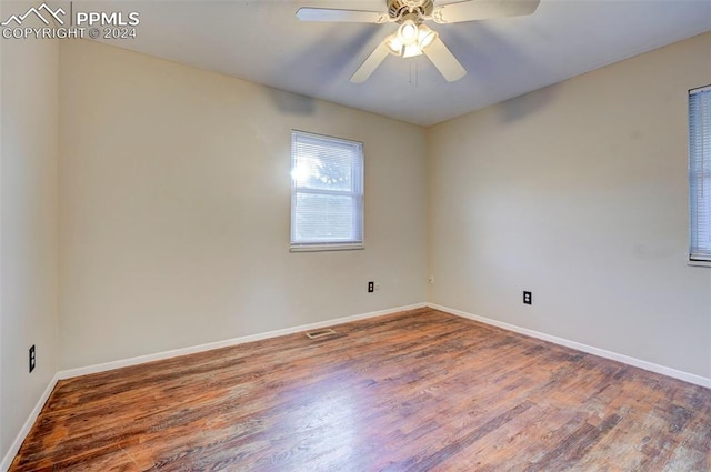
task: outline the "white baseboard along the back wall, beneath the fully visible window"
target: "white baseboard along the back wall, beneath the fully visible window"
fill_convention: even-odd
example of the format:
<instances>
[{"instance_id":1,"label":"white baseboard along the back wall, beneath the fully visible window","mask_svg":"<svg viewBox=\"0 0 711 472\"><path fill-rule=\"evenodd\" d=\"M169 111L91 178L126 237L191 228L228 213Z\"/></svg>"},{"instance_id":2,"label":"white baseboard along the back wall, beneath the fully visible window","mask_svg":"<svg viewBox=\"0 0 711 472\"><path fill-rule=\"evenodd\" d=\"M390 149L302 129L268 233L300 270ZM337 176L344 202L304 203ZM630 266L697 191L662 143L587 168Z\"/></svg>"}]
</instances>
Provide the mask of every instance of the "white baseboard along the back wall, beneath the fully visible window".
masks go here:
<instances>
[{"instance_id":1,"label":"white baseboard along the back wall, beneath the fully visible window","mask_svg":"<svg viewBox=\"0 0 711 472\"><path fill-rule=\"evenodd\" d=\"M106 362L102 364L88 365L86 368L69 369L57 373L60 380L71 379L73 376L88 375L90 373L104 372L113 369L126 368L129 365L143 364L146 362L160 361L163 359L177 358L179 355L194 354L197 352L210 351L212 349L229 348L231 345L243 344L246 342L261 341L263 339L277 338L286 334L293 334L300 331L316 330L319 328L331 327L333 324L347 323L349 321L364 320L367 318L380 317L383 314L398 313L400 311L414 310L427 307L427 303L415 303L404 307L398 307L388 310L372 311L369 313L354 314L352 317L337 318L317 323L301 324L298 327L284 328L282 330L267 331L264 333L250 334L240 338L228 339L223 341L209 342L207 344L192 345L188 348L174 349L171 351L157 352L154 354L139 355L137 358L123 359L119 361Z\"/></svg>"}]
</instances>

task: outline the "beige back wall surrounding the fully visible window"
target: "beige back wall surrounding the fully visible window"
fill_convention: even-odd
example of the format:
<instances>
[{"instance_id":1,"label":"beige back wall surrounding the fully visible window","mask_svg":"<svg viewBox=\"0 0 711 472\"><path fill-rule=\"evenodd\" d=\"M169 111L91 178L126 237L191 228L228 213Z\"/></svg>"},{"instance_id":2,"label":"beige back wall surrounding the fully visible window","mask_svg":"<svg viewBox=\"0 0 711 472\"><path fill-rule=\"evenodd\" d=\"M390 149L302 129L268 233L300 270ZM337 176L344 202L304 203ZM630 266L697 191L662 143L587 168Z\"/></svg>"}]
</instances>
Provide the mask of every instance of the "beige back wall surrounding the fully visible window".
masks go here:
<instances>
[{"instance_id":1,"label":"beige back wall surrounding the fully visible window","mask_svg":"<svg viewBox=\"0 0 711 472\"><path fill-rule=\"evenodd\" d=\"M62 369L425 301L421 128L90 41L60 97ZM365 250L289 252L291 129L364 142Z\"/></svg>"}]
</instances>

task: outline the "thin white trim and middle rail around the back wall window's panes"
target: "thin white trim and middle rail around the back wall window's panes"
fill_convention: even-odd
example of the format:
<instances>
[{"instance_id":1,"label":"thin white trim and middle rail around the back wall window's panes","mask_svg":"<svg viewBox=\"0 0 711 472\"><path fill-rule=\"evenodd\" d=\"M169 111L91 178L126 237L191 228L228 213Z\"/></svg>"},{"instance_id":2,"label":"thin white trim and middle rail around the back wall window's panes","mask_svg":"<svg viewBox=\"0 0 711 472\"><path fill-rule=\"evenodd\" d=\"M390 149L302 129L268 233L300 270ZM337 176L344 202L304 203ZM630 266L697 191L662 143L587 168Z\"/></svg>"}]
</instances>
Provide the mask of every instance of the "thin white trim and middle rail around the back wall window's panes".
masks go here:
<instances>
[{"instance_id":1,"label":"thin white trim and middle rail around the back wall window's panes","mask_svg":"<svg viewBox=\"0 0 711 472\"><path fill-rule=\"evenodd\" d=\"M353 144L357 143L360 145L361 149L361 168L360 168L360 180L361 180L361 185L360 185L360 192L349 192L349 191L330 191L330 190L311 190L311 189L301 189L299 190L299 192L297 192L297 184L296 184L296 180L292 178L291 179L291 222L290 222L290 229L289 229L289 251L290 252L321 252L321 251L351 251L351 250L362 250L365 249L365 162L364 162L364 152L363 152L363 143L360 141L353 141L353 140L347 140L347 139L342 139L342 138L334 138L331 135L327 135L327 134L318 134L318 133L312 133L312 132L308 132L308 131L300 131L300 130L291 130L291 144L292 144L292 151L291 151L291 170L293 170L293 159L294 159L294 153L293 153L293 137L294 135L303 135L303 137L312 137L316 139L323 139L323 140L329 140L329 141L340 141L340 142L344 142L348 144ZM359 214L357 215L358 218L360 218L360 229L361 229L361 238L360 241L346 241L346 242L338 242L338 241L333 241L333 242L322 242L322 241L314 241L314 242L293 242L293 229L294 229L294 205L296 205L296 199L297 199L297 193L317 193L317 194L339 194L339 195L351 195L351 197L360 197L360 201L359 203Z\"/></svg>"}]
</instances>

